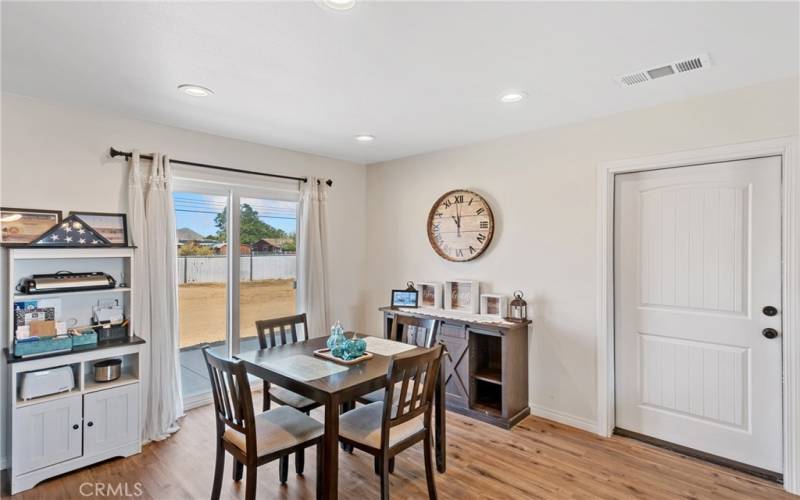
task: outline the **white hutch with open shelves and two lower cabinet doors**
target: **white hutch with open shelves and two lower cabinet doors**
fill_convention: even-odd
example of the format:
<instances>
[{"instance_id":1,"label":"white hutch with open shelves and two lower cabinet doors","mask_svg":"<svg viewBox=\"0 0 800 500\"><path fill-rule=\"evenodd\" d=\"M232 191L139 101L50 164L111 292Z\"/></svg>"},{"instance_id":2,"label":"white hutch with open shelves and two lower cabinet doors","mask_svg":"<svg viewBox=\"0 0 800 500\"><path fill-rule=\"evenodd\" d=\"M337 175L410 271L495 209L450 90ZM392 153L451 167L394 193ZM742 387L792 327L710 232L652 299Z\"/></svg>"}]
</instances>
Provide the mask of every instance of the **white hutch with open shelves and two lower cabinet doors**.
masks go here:
<instances>
[{"instance_id":1,"label":"white hutch with open shelves and two lower cabinet doors","mask_svg":"<svg viewBox=\"0 0 800 500\"><path fill-rule=\"evenodd\" d=\"M140 366L144 342L135 337L76 347L73 351L14 358L14 302L60 299L56 321L68 327L91 324L92 306L98 300L116 299L126 318L133 316L133 248L8 248L6 252L6 336L8 339L9 408L11 437L10 482L16 494L50 477L116 456L141 451ZM58 271L104 272L124 287L23 294L20 280L34 274ZM73 320L73 321L70 321ZM2 324L2 322L0 322ZM129 328L129 331L132 331ZM94 380L94 363L121 359L121 376L110 382ZM19 396L27 372L68 366L75 387L68 392L30 400ZM103 408L116 408L109 418ZM124 411L122 409L125 409ZM122 413L120 413L122 412ZM57 436L32 439L31 436Z\"/></svg>"}]
</instances>

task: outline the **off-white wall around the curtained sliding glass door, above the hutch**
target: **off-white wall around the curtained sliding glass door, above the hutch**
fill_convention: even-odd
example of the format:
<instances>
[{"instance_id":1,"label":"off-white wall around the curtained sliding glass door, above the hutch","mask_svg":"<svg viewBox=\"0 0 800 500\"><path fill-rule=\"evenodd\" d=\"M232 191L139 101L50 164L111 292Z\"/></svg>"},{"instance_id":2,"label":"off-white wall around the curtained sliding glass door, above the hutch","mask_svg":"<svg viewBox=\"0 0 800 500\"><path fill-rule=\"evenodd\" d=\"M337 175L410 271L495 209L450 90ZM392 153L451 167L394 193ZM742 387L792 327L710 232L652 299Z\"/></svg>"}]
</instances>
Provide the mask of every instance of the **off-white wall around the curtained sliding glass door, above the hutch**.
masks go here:
<instances>
[{"instance_id":1,"label":"off-white wall around the curtained sliding glass door, above the hutch","mask_svg":"<svg viewBox=\"0 0 800 500\"><path fill-rule=\"evenodd\" d=\"M348 328L363 330L363 165L10 94L2 95L1 138L0 206L7 207L127 212L127 168L124 160L108 157L110 146L160 151L172 158L246 170L333 179L328 198L328 247L330 262L335 264L331 266L331 311ZM0 265L6 266L4 261ZM5 325L5 320L0 324ZM5 347L8 332L2 333ZM5 377L5 362L0 362L0 370ZM6 384L2 387L0 401L5 405ZM4 419L6 411L0 415ZM5 429L2 421L0 429Z\"/></svg>"}]
</instances>

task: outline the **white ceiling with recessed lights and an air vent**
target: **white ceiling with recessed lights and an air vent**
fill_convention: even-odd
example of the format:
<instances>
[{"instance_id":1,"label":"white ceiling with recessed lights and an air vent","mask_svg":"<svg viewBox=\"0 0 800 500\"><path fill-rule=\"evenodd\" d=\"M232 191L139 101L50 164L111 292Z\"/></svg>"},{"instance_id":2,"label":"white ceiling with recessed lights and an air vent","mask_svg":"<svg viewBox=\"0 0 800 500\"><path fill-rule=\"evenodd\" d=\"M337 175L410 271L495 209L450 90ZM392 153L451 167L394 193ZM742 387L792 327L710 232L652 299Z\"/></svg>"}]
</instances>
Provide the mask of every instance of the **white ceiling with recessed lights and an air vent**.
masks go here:
<instances>
[{"instance_id":1,"label":"white ceiling with recessed lights and an air vent","mask_svg":"<svg viewBox=\"0 0 800 500\"><path fill-rule=\"evenodd\" d=\"M4 91L362 163L797 75L798 44L797 2L2 2Z\"/></svg>"}]
</instances>

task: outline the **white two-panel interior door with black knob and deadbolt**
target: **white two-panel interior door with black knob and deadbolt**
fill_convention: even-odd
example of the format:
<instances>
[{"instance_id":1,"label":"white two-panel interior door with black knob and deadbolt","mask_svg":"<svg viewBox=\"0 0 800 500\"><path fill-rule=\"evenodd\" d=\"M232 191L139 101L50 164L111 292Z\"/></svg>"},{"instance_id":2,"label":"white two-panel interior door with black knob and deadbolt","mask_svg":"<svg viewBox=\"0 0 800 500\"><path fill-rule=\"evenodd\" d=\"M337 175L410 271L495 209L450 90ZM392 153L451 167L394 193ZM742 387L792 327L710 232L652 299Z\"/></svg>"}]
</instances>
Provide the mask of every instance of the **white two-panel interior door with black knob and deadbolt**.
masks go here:
<instances>
[{"instance_id":1,"label":"white two-panel interior door with black knob and deadbolt","mask_svg":"<svg viewBox=\"0 0 800 500\"><path fill-rule=\"evenodd\" d=\"M782 472L780 162L616 176L618 428Z\"/></svg>"}]
</instances>

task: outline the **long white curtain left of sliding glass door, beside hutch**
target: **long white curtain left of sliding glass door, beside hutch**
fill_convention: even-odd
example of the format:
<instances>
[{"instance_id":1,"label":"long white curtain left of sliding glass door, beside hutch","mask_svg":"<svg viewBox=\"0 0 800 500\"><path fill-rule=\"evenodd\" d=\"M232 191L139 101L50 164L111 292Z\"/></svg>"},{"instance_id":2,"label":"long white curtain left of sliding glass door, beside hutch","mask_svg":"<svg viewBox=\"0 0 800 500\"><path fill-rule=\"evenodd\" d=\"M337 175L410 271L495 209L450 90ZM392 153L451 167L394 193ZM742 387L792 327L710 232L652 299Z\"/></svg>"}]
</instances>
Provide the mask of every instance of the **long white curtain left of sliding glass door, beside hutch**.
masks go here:
<instances>
[{"instance_id":1,"label":"long white curtain left of sliding glass door, beside hutch","mask_svg":"<svg viewBox=\"0 0 800 500\"><path fill-rule=\"evenodd\" d=\"M178 351L178 283L175 211L169 158L153 154L150 175L131 157L129 213L134 252L134 333L147 340L143 363L143 439L177 431L183 416Z\"/></svg>"}]
</instances>

